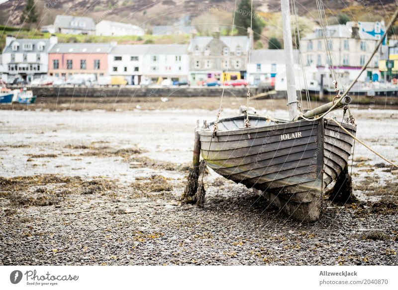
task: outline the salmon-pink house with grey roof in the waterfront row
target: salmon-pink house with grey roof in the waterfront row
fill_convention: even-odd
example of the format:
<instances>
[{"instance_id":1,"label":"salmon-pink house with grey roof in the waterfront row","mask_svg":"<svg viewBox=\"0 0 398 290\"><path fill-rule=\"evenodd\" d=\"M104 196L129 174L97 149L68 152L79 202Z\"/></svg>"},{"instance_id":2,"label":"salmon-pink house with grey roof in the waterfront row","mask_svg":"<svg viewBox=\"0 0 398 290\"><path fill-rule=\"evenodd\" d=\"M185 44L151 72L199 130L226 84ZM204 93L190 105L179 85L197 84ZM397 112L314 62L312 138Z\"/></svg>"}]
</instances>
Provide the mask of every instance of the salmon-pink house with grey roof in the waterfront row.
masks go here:
<instances>
[{"instance_id":1,"label":"salmon-pink house with grey roof in the waterfront row","mask_svg":"<svg viewBox=\"0 0 398 290\"><path fill-rule=\"evenodd\" d=\"M107 75L108 53L116 43L59 43L48 53L48 74L68 80L74 74Z\"/></svg>"}]
</instances>

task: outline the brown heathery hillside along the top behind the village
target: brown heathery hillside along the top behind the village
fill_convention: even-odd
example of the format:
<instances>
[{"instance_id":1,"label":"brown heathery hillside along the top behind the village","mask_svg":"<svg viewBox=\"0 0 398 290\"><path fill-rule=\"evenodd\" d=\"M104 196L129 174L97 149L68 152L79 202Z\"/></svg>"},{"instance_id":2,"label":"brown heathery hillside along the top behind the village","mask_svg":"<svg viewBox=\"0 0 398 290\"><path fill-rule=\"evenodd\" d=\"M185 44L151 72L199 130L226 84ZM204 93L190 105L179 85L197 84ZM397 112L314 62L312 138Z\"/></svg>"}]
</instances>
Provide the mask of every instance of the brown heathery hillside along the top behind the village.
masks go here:
<instances>
[{"instance_id":1,"label":"brown heathery hillside along the top behind the village","mask_svg":"<svg viewBox=\"0 0 398 290\"><path fill-rule=\"evenodd\" d=\"M102 19L129 22L150 28L151 25L172 24L182 16L190 18L214 11L230 14L234 0L37 0L40 12L40 25L50 24L57 14L84 15L93 17L96 22ZM3 12L0 24L20 25L19 17L26 0L8 0L0 4ZM300 15L311 20L317 18L314 0L297 0ZM352 19L375 21L391 15L396 7L396 0L324 0L329 16L343 11ZM383 4L382 4L383 3ZM254 1L258 12L275 12L280 10L280 0ZM209 8L211 7L211 8ZM226 9L225 7L228 7Z\"/></svg>"}]
</instances>

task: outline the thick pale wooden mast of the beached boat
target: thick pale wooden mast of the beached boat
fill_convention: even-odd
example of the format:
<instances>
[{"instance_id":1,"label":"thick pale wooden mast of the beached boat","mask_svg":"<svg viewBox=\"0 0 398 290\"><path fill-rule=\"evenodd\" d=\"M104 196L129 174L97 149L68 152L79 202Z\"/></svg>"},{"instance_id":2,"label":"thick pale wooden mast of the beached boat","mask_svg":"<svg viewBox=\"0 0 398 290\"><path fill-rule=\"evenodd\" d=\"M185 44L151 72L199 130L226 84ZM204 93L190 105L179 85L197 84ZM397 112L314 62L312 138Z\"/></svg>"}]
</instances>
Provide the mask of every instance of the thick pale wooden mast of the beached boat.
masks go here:
<instances>
[{"instance_id":1,"label":"thick pale wooden mast of the beached boat","mask_svg":"<svg viewBox=\"0 0 398 290\"><path fill-rule=\"evenodd\" d=\"M290 27L290 5L289 0L281 0L282 21L283 21L283 44L286 60L286 84L288 92L289 119L298 115L298 100L296 95L295 63L293 61L292 30Z\"/></svg>"}]
</instances>

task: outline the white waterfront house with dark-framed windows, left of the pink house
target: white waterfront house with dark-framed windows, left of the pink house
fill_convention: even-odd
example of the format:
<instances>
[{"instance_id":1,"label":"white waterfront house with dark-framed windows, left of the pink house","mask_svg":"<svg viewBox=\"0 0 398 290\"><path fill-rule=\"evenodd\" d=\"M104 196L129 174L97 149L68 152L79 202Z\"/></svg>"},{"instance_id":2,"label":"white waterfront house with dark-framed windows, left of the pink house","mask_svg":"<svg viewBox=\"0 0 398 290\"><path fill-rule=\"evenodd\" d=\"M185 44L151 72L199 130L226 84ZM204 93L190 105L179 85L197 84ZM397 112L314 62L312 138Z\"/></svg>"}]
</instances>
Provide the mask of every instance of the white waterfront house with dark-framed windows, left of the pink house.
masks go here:
<instances>
[{"instance_id":1,"label":"white waterfront house with dark-framed windows, left of the pink house","mask_svg":"<svg viewBox=\"0 0 398 290\"><path fill-rule=\"evenodd\" d=\"M9 80L22 78L28 82L48 72L48 52L58 42L48 39L16 39L6 36L2 53L4 75Z\"/></svg>"}]
</instances>

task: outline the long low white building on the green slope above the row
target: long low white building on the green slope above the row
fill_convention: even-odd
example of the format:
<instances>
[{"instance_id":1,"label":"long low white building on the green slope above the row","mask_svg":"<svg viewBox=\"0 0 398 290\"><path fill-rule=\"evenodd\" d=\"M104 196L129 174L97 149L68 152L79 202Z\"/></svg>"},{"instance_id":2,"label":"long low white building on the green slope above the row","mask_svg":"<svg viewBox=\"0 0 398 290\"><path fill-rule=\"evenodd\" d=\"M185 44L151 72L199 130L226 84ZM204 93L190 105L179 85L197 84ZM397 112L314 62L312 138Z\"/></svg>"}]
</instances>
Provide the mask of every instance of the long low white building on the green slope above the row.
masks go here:
<instances>
[{"instance_id":1,"label":"long low white building on the green slope above the row","mask_svg":"<svg viewBox=\"0 0 398 290\"><path fill-rule=\"evenodd\" d=\"M130 23L121 23L109 20L101 20L96 25L96 35L100 36L125 36L145 34L144 29Z\"/></svg>"}]
</instances>

